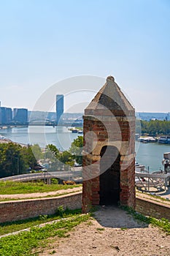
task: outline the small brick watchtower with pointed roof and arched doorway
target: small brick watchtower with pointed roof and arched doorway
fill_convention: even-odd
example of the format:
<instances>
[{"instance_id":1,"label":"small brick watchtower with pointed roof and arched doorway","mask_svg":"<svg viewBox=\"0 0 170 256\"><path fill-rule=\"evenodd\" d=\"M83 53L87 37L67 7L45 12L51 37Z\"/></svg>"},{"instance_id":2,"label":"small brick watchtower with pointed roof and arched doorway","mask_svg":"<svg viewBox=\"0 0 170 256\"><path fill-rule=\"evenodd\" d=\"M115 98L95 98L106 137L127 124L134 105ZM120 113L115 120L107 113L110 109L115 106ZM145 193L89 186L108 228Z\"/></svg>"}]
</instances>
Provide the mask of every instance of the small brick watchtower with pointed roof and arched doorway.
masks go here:
<instances>
[{"instance_id":1,"label":"small brick watchtower with pointed roof and arched doorway","mask_svg":"<svg viewBox=\"0 0 170 256\"><path fill-rule=\"evenodd\" d=\"M82 211L135 207L135 110L112 76L85 109Z\"/></svg>"}]
</instances>

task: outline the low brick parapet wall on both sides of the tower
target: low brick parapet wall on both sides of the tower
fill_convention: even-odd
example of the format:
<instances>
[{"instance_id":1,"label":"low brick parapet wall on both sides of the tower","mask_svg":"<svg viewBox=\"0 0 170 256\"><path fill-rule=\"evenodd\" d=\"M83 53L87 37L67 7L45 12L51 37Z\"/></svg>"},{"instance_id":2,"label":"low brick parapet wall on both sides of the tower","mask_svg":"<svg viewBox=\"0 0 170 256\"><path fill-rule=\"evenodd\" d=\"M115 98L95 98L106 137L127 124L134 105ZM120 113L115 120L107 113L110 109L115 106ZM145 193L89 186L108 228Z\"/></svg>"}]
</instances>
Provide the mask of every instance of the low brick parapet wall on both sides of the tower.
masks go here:
<instances>
[{"instance_id":1,"label":"low brick parapet wall on both sides of the tower","mask_svg":"<svg viewBox=\"0 0 170 256\"><path fill-rule=\"evenodd\" d=\"M93 203L95 204L95 202ZM53 198L1 202L0 222L12 222L44 214L54 214L58 206L68 207L69 209L81 208L82 192ZM170 205L163 202L154 202L150 199L136 196L136 211L150 217L166 218L170 221Z\"/></svg>"}]
</instances>

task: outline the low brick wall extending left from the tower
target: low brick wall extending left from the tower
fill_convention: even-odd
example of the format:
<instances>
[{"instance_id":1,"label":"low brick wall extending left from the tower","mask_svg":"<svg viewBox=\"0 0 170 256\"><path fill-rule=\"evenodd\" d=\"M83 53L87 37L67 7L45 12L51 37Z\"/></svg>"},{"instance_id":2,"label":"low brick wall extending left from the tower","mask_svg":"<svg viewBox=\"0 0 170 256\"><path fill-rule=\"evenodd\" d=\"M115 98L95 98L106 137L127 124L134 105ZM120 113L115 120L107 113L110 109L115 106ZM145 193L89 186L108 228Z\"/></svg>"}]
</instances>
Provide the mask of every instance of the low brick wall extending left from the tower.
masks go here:
<instances>
[{"instance_id":1,"label":"low brick wall extending left from the tower","mask_svg":"<svg viewBox=\"0 0 170 256\"><path fill-rule=\"evenodd\" d=\"M82 207L82 192L59 197L17 200L0 203L0 222L13 222L20 219L55 214L58 206L77 209Z\"/></svg>"}]
</instances>

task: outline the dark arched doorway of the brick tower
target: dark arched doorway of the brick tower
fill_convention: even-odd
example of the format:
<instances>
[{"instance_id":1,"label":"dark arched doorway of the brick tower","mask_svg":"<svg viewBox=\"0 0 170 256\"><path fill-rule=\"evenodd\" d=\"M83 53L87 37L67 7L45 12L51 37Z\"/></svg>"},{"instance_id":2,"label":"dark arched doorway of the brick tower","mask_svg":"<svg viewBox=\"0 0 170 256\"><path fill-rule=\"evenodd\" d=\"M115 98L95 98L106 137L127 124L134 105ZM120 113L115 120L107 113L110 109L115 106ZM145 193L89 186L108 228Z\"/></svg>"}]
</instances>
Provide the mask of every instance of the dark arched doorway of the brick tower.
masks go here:
<instances>
[{"instance_id":1,"label":"dark arched doorway of the brick tower","mask_svg":"<svg viewBox=\"0 0 170 256\"><path fill-rule=\"evenodd\" d=\"M100 155L100 205L117 205L120 200L120 153L115 146L104 146Z\"/></svg>"}]
</instances>

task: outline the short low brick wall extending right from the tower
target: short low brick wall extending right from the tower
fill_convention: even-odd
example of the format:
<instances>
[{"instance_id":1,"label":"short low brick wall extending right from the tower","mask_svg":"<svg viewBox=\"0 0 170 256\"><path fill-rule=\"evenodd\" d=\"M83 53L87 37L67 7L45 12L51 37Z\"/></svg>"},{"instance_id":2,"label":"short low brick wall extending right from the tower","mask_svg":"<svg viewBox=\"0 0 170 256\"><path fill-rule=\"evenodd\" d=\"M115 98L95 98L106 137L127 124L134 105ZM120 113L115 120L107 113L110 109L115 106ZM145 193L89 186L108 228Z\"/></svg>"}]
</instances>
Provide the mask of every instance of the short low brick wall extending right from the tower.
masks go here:
<instances>
[{"instance_id":1,"label":"short low brick wall extending right from the tower","mask_svg":"<svg viewBox=\"0 0 170 256\"><path fill-rule=\"evenodd\" d=\"M136 211L146 216L156 219L169 219L170 221L170 205L161 202L155 202L147 198L136 196Z\"/></svg>"}]
</instances>

